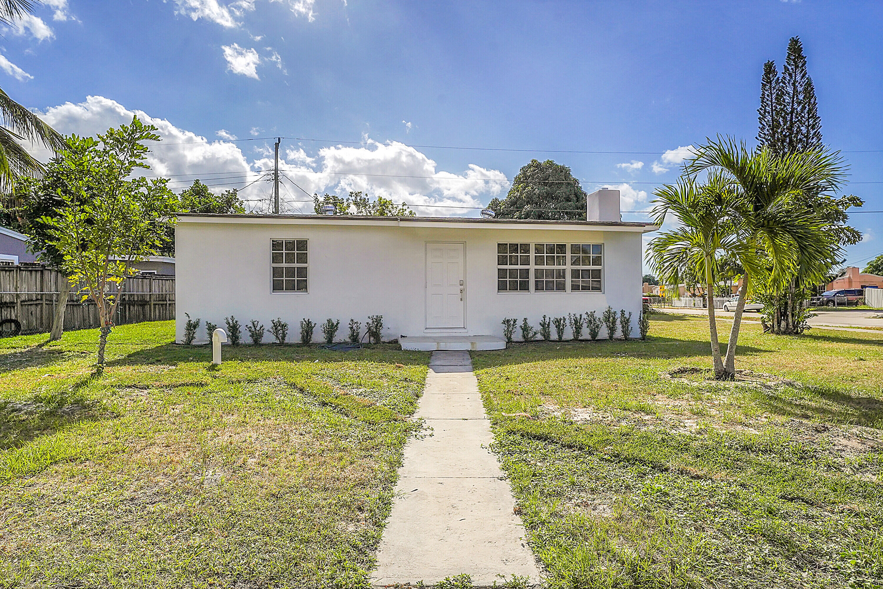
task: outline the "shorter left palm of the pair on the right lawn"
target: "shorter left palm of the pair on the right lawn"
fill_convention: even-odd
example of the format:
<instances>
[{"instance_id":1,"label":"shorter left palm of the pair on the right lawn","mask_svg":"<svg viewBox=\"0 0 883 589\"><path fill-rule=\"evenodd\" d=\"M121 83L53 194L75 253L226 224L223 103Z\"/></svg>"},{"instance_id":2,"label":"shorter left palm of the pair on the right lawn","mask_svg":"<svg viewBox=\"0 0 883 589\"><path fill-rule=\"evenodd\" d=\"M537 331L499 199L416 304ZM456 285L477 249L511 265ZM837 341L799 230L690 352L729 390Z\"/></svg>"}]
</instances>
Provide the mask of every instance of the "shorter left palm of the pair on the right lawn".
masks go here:
<instances>
[{"instance_id":1,"label":"shorter left palm of the pair on the right lawn","mask_svg":"<svg viewBox=\"0 0 883 589\"><path fill-rule=\"evenodd\" d=\"M725 371L714 317L714 284L719 276L720 253L742 252L743 240L730 211L738 207L736 194L725 178L710 175L706 184L684 176L675 185L664 185L654 192L653 223L661 225L675 215L683 223L648 244L650 267L666 283L678 284L683 276L694 274L705 280L708 297L708 328L711 334L715 378L731 378ZM745 253L747 258L747 253Z\"/></svg>"}]
</instances>

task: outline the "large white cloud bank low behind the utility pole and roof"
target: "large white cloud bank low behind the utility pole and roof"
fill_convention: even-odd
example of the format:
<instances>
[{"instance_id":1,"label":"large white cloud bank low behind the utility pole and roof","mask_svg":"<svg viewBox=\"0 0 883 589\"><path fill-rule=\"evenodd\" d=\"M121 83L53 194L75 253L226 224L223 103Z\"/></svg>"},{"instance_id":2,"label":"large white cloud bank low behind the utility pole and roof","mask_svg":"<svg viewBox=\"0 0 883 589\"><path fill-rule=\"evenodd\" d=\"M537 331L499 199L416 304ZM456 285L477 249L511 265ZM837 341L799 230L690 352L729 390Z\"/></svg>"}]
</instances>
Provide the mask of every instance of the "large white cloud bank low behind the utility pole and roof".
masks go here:
<instances>
[{"instance_id":1,"label":"large white cloud bank low behind the utility pole and roof","mask_svg":"<svg viewBox=\"0 0 883 589\"><path fill-rule=\"evenodd\" d=\"M88 136L106 132L109 127L128 125L137 116L158 127L162 136L162 141L151 146L147 155L151 170L145 171L146 175L170 177L170 187L175 191L183 190L198 177L206 179L208 185L213 185L212 190L218 192L259 180L242 190L240 198L247 199L246 204L256 212L269 210L272 185L266 178L260 179L260 170L273 167L272 143L256 146L258 155L250 161L235 143L228 142L232 137L229 132L217 132L228 141L208 140L102 96L88 96L85 102L77 104L65 102L39 114L59 132ZM509 179L499 170L469 164L463 172L452 173L438 170L432 159L403 143L381 144L367 139L365 143L364 147L323 147L315 155L307 154L300 146L284 146L279 162L283 170L283 210L309 213L313 210L310 202L295 201L309 200L308 195L313 193L346 194L361 190L372 198L383 196L396 203L415 205L419 215L477 215L476 208L482 206L482 201L509 189ZM48 158L45 150L34 149L33 153L43 161ZM629 198L645 200L646 195L626 193L623 189L623 202L630 203Z\"/></svg>"}]
</instances>

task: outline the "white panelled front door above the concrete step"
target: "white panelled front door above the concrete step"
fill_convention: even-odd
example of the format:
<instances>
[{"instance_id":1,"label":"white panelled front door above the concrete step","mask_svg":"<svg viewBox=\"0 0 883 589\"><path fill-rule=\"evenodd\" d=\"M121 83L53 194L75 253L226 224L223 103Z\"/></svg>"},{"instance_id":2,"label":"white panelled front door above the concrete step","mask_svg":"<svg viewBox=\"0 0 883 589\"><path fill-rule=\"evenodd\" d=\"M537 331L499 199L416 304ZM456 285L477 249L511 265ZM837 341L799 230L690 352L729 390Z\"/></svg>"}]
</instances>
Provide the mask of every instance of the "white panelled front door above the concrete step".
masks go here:
<instances>
[{"instance_id":1,"label":"white panelled front door above the concrete step","mask_svg":"<svg viewBox=\"0 0 883 589\"><path fill-rule=\"evenodd\" d=\"M426 244L426 327L464 328L464 244Z\"/></svg>"}]
</instances>

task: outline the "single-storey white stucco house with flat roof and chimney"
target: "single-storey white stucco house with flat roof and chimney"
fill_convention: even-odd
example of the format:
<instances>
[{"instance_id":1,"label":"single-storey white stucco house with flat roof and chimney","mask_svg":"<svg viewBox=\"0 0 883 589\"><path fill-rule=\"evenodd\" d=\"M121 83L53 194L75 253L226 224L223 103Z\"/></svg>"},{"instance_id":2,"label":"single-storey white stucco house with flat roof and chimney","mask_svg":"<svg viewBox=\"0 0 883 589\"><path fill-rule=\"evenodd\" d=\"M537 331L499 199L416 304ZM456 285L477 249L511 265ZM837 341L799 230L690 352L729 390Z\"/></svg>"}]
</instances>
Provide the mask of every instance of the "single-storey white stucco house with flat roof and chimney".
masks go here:
<instances>
[{"instance_id":1,"label":"single-storey white stucco house with flat roof and chimney","mask_svg":"<svg viewBox=\"0 0 883 589\"><path fill-rule=\"evenodd\" d=\"M383 339L411 350L502 348L504 318L537 327L608 305L637 318L641 236L658 228L621 221L619 200L589 195L588 221L179 215L177 341L184 313L222 327L281 317L295 342L303 318L341 320L343 340L350 319L364 333L380 314Z\"/></svg>"}]
</instances>

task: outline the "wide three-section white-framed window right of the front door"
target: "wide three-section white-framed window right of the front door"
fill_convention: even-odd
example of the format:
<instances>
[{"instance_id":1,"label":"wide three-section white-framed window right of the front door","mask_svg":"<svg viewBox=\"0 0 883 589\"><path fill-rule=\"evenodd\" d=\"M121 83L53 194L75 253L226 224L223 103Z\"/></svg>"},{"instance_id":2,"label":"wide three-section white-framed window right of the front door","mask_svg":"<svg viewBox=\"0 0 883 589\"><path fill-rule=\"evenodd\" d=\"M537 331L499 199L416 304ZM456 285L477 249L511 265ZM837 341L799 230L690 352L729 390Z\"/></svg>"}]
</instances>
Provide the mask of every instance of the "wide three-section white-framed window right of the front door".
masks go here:
<instances>
[{"instance_id":1,"label":"wide three-section white-framed window right of the front door","mask_svg":"<svg viewBox=\"0 0 883 589\"><path fill-rule=\"evenodd\" d=\"M603 292L603 244L497 244L498 292Z\"/></svg>"}]
</instances>

